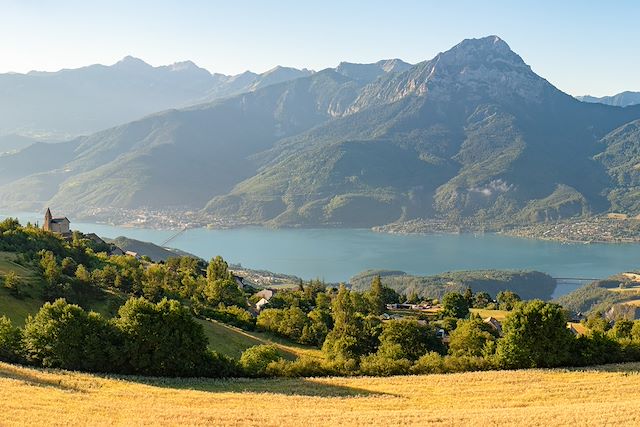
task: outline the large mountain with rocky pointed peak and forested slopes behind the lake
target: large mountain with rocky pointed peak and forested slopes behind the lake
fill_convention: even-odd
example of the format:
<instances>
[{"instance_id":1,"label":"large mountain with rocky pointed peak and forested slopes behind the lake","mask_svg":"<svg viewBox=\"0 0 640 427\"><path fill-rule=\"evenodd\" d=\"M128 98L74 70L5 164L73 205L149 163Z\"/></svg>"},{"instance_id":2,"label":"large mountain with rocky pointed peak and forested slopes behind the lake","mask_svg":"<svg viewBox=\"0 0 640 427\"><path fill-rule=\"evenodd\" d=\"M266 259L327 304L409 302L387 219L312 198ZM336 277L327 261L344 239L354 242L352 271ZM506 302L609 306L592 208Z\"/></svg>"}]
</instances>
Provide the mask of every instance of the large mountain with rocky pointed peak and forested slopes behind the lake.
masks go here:
<instances>
[{"instance_id":1,"label":"large mountain with rocky pointed peak and forested slopes behind the lake","mask_svg":"<svg viewBox=\"0 0 640 427\"><path fill-rule=\"evenodd\" d=\"M581 102L497 36L250 86L2 156L0 206L349 227L640 213L640 106Z\"/></svg>"}]
</instances>

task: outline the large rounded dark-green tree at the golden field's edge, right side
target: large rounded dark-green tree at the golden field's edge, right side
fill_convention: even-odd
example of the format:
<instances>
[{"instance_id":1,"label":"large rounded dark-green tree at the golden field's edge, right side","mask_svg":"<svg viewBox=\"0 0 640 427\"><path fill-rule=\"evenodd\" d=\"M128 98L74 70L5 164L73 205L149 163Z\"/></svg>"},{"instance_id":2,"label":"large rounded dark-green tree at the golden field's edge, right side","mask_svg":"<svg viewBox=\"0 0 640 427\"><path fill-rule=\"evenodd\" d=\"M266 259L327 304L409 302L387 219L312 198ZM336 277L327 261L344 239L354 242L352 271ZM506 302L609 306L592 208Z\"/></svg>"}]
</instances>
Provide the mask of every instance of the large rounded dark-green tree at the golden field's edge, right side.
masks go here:
<instances>
[{"instance_id":1,"label":"large rounded dark-green tree at the golden field's edge, right side","mask_svg":"<svg viewBox=\"0 0 640 427\"><path fill-rule=\"evenodd\" d=\"M569 361L574 338L558 304L540 300L519 303L504 321L502 331L496 355L505 368L554 367Z\"/></svg>"}]
</instances>

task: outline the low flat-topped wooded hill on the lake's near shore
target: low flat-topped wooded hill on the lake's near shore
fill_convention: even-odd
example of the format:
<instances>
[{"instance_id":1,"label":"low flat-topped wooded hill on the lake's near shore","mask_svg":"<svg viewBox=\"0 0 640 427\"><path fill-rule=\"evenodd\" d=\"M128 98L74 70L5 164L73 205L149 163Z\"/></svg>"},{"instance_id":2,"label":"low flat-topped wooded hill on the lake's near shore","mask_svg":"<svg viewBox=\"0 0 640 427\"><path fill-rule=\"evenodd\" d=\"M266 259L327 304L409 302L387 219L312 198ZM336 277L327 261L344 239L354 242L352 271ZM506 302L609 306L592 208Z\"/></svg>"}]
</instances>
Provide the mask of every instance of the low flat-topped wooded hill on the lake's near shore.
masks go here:
<instances>
[{"instance_id":1,"label":"low flat-topped wooded hill on the lake's near shore","mask_svg":"<svg viewBox=\"0 0 640 427\"><path fill-rule=\"evenodd\" d=\"M402 271L371 270L362 272L349 280L353 289L366 290L371 280L381 276L382 284L409 295L415 292L423 298L441 299L449 292L487 292L495 298L500 291L510 290L523 299L551 299L556 281L539 271L454 271L435 276L412 276Z\"/></svg>"}]
</instances>

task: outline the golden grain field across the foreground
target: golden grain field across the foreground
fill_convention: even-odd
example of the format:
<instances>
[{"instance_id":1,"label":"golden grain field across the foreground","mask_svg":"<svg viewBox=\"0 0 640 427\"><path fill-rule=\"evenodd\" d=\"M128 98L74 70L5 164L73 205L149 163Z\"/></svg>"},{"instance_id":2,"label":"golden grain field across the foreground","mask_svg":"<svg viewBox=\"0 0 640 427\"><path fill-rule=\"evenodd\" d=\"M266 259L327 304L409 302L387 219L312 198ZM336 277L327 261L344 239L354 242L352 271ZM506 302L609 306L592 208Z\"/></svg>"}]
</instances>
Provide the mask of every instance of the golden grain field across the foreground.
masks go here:
<instances>
[{"instance_id":1,"label":"golden grain field across the foreground","mask_svg":"<svg viewBox=\"0 0 640 427\"><path fill-rule=\"evenodd\" d=\"M640 364L391 378L113 379L0 363L1 425L640 425Z\"/></svg>"}]
</instances>

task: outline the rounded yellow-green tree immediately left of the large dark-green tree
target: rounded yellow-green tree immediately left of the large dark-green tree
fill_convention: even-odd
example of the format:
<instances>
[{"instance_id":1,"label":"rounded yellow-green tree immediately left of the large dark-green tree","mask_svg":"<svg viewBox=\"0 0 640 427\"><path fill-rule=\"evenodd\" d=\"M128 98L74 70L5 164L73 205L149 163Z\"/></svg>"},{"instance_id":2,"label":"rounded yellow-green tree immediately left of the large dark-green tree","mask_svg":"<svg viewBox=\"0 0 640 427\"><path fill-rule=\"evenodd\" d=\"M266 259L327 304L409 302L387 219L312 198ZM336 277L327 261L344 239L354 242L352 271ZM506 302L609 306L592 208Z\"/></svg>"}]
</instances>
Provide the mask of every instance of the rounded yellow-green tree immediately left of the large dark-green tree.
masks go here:
<instances>
[{"instance_id":1,"label":"rounded yellow-green tree immediately left of the large dark-green tree","mask_svg":"<svg viewBox=\"0 0 640 427\"><path fill-rule=\"evenodd\" d=\"M495 350L493 328L473 317L458 320L458 326L449 337L449 353L453 356L486 356Z\"/></svg>"}]
</instances>

